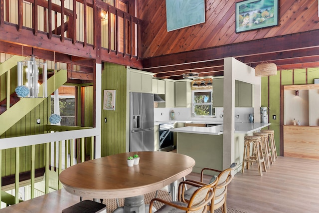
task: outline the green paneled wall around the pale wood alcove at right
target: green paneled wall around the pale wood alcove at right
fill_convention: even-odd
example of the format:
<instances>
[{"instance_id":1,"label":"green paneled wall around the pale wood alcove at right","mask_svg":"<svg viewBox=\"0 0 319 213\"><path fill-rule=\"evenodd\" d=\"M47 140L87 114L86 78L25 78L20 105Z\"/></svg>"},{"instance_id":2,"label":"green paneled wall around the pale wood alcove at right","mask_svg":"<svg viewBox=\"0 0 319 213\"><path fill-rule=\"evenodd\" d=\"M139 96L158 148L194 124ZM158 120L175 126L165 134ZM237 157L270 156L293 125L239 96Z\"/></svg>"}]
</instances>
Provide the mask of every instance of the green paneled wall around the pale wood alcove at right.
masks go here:
<instances>
[{"instance_id":1,"label":"green paneled wall around the pale wood alcove at right","mask_svg":"<svg viewBox=\"0 0 319 213\"><path fill-rule=\"evenodd\" d=\"M315 78L319 78L319 68L281 70L277 72L277 75L262 77L261 106L269 107L269 122L271 123L269 128L275 131L278 154L280 154L281 87L283 85L307 84L307 82L313 84ZM276 120L273 120L273 115L276 115Z\"/></svg>"}]
</instances>

